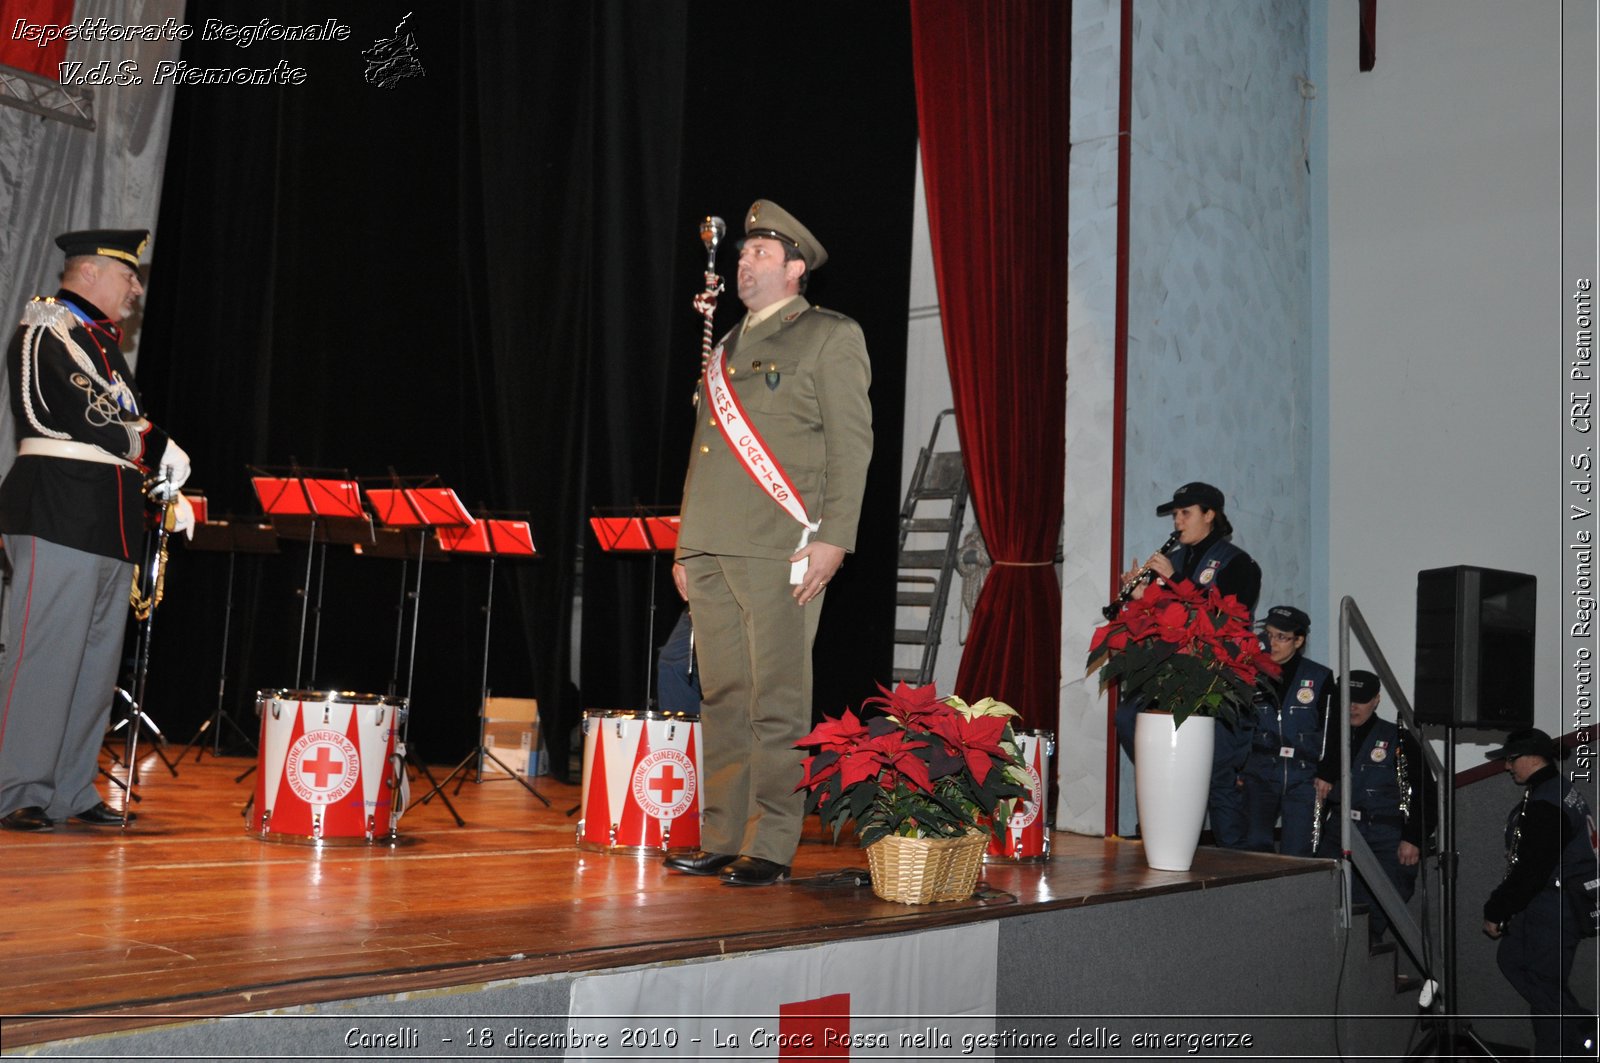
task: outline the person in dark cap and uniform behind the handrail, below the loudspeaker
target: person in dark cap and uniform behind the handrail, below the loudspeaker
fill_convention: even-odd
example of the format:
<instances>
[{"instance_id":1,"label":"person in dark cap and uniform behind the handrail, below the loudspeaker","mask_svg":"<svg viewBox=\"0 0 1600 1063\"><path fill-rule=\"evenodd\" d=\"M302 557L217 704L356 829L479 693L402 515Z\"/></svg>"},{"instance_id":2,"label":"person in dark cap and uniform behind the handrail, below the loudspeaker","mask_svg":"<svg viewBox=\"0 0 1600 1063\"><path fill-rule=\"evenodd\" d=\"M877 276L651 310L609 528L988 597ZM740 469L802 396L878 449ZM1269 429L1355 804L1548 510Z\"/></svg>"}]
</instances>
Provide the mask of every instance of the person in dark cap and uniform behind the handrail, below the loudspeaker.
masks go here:
<instances>
[{"instance_id":1,"label":"person in dark cap and uniform behind the handrail, below the loudspeaker","mask_svg":"<svg viewBox=\"0 0 1600 1063\"><path fill-rule=\"evenodd\" d=\"M1411 900L1422 850L1438 823L1434 772L1422 759L1422 749L1408 732L1376 716L1382 685L1376 674L1350 672L1350 791L1347 813L1355 831L1373 850L1373 856L1394 884L1400 900ZM1317 794L1328 808L1341 804L1338 792L1342 749L1328 743L1328 754L1317 765ZM1323 829L1318 856L1339 855L1339 829L1333 820ZM1371 893L1357 876L1352 898L1370 905ZM1366 922L1368 945L1378 945L1389 917L1376 905Z\"/></svg>"}]
</instances>

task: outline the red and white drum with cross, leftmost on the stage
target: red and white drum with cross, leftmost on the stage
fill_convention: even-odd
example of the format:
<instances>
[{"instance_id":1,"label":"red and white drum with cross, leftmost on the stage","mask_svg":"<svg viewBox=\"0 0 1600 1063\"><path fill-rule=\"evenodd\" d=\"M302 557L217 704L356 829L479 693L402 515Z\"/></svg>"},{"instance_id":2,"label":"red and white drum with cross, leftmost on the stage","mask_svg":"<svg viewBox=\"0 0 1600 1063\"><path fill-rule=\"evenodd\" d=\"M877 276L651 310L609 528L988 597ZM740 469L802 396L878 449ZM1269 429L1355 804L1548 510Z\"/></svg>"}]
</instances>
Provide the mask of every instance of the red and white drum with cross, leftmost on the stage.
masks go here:
<instances>
[{"instance_id":1,"label":"red and white drum with cross, leftmost on the stage","mask_svg":"<svg viewBox=\"0 0 1600 1063\"><path fill-rule=\"evenodd\" d=\"M261 760L245 829L275 842L394 840L405 765L395 730L405 698L262 690Z\"/></svg>"}]
</instances>

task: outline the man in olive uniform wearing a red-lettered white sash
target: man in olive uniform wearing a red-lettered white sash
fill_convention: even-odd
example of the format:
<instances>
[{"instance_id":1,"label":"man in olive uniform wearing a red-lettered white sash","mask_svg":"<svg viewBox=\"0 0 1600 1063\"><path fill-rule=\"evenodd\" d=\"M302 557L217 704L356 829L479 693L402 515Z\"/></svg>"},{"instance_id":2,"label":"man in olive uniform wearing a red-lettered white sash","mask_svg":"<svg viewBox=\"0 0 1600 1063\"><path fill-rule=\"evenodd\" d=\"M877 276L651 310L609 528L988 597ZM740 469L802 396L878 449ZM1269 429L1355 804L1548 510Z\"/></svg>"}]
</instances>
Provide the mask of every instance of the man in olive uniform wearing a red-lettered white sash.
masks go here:
<instances>
[{"instance_id":1,"label":"man in olive uniform wearing a red-lettered white sash","mask_svg":"<svg viewBox=\"0 0 1600 1063\"><path fill-rule=\"evenodd\" d=\"M805 816L795 749L811 727L822 589L856 544L872 456L861 327L800 295L827 251L787 211L744 218L747 314L712 352L672 576L694 613L706 848L669 856L730 885L787 877Z\"/></svg>"}]
</instances>

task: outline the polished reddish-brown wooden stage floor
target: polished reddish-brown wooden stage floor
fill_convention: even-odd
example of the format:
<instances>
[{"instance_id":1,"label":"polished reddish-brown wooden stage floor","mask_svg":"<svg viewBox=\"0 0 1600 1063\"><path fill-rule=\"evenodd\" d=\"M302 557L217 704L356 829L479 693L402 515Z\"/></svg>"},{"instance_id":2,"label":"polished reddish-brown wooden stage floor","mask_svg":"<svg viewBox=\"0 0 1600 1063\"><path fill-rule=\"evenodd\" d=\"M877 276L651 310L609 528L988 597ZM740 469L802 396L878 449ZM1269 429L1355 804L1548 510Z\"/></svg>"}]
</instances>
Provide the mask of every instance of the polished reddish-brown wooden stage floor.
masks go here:
<instances>
[{"instance_id":1,"label":"polished reddish-brown wooden stage floor","mask_svg":"<svg viewBox=\"0 0 1600 1063\"><path fill-rule=\"evenodd\" d=\"M971 901L904 906L826 882L866 868L816 820L795 879L733 889L654 858L574 847L579 788L541 805L467 783L458 828L435 799L397 845L270 844L245 832L253 760L146 760L126 832L0 831L5 1047L350 997L766 949L1299 874L1322 861L1202 848L1190 872L1138 842L1058 832L1043 864L989 864ZM414 786L414 783L413 783ZM413 789L413 792L419 792Z\"/></svg>"}]
</instances>

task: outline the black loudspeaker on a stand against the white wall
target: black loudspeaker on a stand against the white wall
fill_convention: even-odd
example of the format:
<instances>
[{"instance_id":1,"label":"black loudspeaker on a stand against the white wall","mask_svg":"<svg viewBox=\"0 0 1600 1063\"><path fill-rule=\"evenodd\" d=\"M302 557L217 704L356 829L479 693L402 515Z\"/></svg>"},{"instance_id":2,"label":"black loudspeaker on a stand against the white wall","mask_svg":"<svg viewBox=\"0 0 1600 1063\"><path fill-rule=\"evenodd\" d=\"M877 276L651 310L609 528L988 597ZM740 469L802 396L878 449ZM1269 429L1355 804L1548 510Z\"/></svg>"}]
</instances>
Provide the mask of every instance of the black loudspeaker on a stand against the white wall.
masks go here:
<instances>
[{"instance_id":1,"label":"black loudspeaker on a stand against the white wall","mask_svg":"<svg viewBox=\"0 0 1600 1063\"><path fill-rule=\"evenodd\" d=\"M1520 572L1416 573L1416 690L1422 724L1533 727L1533 612L1539 583Z\"/></svg>"}]
</instances>

